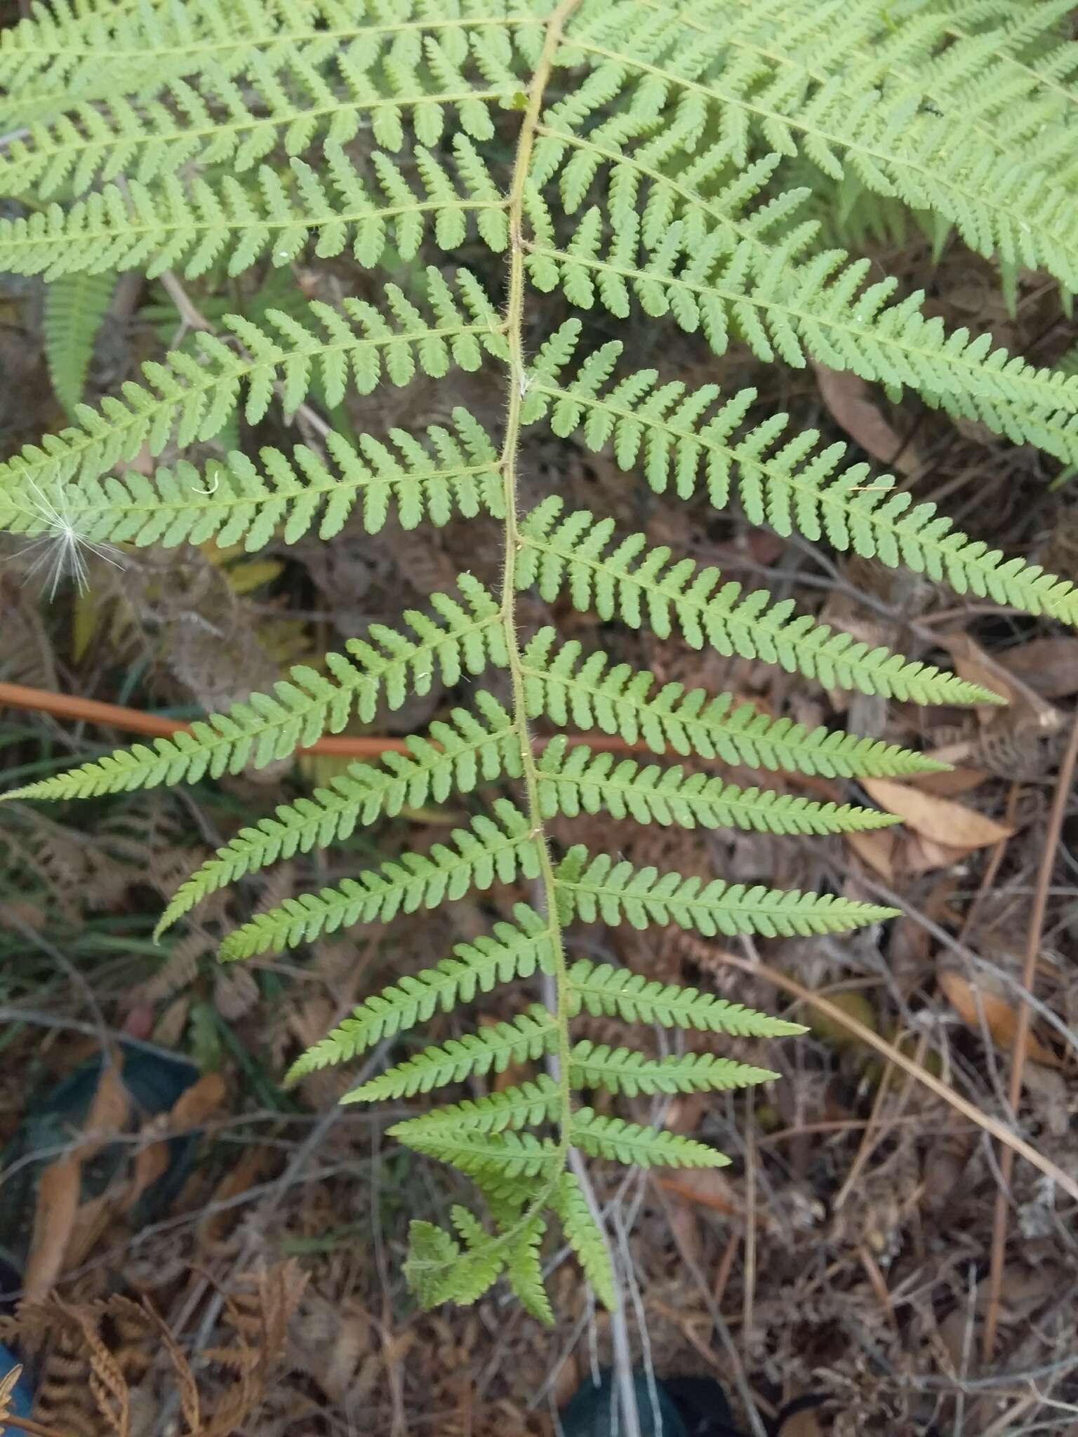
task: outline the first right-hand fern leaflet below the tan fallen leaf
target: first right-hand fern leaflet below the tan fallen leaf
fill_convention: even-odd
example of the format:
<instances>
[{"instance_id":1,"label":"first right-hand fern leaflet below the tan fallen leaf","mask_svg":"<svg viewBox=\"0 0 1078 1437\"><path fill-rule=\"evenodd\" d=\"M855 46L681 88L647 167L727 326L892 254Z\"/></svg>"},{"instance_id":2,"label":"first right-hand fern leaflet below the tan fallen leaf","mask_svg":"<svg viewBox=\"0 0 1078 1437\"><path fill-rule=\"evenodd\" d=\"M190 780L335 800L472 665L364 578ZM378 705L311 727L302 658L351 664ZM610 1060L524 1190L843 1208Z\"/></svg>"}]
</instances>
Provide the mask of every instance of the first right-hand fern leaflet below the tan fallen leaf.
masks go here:
<instances>
[{"instance_id":1,"label":"first right-hand fern leaflet below the tan fallen leaf","mask_svg":"<svg viewBox=\"0 0 1078 1437\"><path fill-rule=\"evenodd\" d=\"M634 928L676 923L709 938L719 933L759 933L768 938L847 933L897 915L895 908L835 894L765 888L760 884L703 882L655 868L634 868L609 854L594 858L575 844L555 869L566 921L630 923Z\"/></svg>"}]
</instances>

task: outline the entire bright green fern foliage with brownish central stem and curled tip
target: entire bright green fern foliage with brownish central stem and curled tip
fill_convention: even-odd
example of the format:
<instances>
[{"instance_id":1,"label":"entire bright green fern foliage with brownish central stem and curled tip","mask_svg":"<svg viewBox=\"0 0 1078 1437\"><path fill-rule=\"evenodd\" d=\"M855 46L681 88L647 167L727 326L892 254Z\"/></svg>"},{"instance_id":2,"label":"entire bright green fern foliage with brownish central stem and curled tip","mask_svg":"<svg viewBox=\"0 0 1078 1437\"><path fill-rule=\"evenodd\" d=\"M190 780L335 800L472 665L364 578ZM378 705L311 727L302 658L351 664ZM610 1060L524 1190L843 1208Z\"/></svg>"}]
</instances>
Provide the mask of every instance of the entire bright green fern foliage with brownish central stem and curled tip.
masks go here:
<instances>
[{"instance_id":1,"label":"entire bright green fern foliage with brownish central stem and curled tip","mask_svg":"<svg viewBox=\"0 0 1078 1437\"><path fill-rule=\"evenodd\" d=\"M405 852L338 887L260 912L221 957L391 920L470 890L523 882L490 931L372 994L292 1069L300 1078L367 1052L497 984L543 977L550 1006L413 1056L348 1101L402 1098L533 1065L484 1098L417 1108L392 1132L471 1175L486 1217L417 1221L408 1273L425 1303L473 1300L506 1273L549 1318L539 1267L555 1217L604 1300L607 1250L572 1148L618 1163L719 1165L690 1138L596 1111L594 1092L719 1091L773 1076L710 1053L655 1059L575 1039L584 1012L627 1023L775 1038L798 1025L688 987L572 961L576 923L678 924L704 935L835 933L888 910L819 892L686 879L546 836L555 815L605 810L640 823L835 833L891 822L664 762L720 759L828 779L903 776L933 764L891 744L765 717L729 694L686 690L614 662L555 628L522 632L517 595L778 664L806 680L923 704L993 696L930 664L832 631L785 599L746 592L612 519L525 503L522 440L546 425L607 450L670 503L734 499L753 523L875 556L1029 614L1078 621L1068 582L957 532L841 444L759 418L755 391L690 389L634 369L619 320L699 332L723 354L819 361L898 397L1078 463L1078 378L949 332L871 280L867 262L819 243L806 201L838 185L916 211L995 256L1005 280L1039 267L1078 286L1071 224L1078 162L1065 78L1071 0L55 0L0 36L9 105L0 270L78 276L141 269L194 280L289 273L299 256L349 256L407 283L339 308L318 300L254 323L224 316L193 348L144 365L99 408L0 467L0 526L88 545L217 539L249 550L345 525L375 533L493 517L500 585L461 573L397 628L372 625L318 667L298 667L171 739L134 744L22 798L75 799L198 782L293 753L467 678L466 701L354 763L272 818L240 829L180 888L161 927L207 894L356 825L474 795L471 818L428 852ZM805 177L809 184L805 185ZM792 184L798 178L798 185ZM927 221L926 221L927 217ZM464 263L467 260L467 263ZM425 266L425 267L421 267ZM500 279L497 277L500 266ZM558 303L542 296L559 293ZM59 293L53 290L53 293ZM550 313L569 313L561 323ZM599 323L592 326L595 316ZM528 342L526 342L528 338ZM328 410L352 391L482 371L503 397L496 428L467 408L421 430L329 427L319 447L229 453L201 473L184 447L249 425L273 405ZM65 397L75 401L78 375ZM148 477L126 461L167 464ZM476 687L482 683L490 687ZM553 741L533 720L615 734L614 757ZM651 762L647 750L655 756ZM515 796L510 799L507 793ZM585 1098L581 1101L579 1095Z\"/></svg>"}]
</instances>

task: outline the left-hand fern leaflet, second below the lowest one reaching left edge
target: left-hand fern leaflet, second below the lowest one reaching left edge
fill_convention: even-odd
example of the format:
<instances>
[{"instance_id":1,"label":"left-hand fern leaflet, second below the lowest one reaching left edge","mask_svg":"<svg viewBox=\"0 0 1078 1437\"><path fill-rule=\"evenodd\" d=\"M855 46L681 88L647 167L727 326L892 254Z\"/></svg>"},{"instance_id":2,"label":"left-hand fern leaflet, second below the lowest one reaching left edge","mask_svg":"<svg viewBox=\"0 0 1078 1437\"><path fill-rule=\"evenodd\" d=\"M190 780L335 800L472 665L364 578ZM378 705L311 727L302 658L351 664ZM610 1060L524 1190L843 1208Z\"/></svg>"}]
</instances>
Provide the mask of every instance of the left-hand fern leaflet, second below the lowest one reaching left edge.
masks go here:
<instances>
[{"instance_id":1,"label":"left-hand fern leaflet, second below the lowest one reaching left edge","mask_svg":"<svg viewBox=\"0 0 1078 1437\"><path fill-rule=\"evenodd\" d=\"M507 799L496 799L494 812L497 823L477 813L469 828L454 828L453 846L436 844L430 854L401 854L336 888L286 898L279 908L256 914L224 938L220 957L231 961L295 948L354 923L388 921L397 912L461 898L473 888L512 884L517 874L535 878L539 855L528 819Z\"/></svg>"}]
</instances>

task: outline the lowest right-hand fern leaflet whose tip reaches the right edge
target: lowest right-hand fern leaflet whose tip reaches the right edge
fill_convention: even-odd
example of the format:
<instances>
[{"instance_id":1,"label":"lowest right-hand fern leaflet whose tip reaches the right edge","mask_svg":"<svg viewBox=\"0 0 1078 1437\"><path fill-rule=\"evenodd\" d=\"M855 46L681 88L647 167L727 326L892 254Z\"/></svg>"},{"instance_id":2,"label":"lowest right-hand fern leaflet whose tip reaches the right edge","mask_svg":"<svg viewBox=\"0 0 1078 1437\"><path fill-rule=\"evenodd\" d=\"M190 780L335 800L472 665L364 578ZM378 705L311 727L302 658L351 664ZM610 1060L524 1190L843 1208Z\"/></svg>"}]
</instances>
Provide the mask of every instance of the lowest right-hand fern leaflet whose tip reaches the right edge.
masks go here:
<instances>
[{"instance_id":1,"label":"lowest right-hand fern leaflet whose tip reaches the right edge","mask_svg":"<svg viewBox=\"0 0 1078 1437\"><path fill-rule=\"evenodd\" d=\"M690 391L680 382L658 384L655 369L604 388L624 349L618 341L559 382L579 328L579 320L568 320L540 351L528 391L532 422L549 411L555 434L579 431L591 450L611 445L619 468L642 460L655 493L673 487L678 499L690 499L703 477L716 509L724 509L736 489L749 522L783 536L826 539L893 569L943 581L957 593L1078 624L1074 583L969 539L936 504L916 504L893 474L875 474L868 464L842 467L845 444L822 445L816 430L788 438L786 414L749 428L755 389L740 389L716 410L717 385Z\"/></svg>"}]
</instances>

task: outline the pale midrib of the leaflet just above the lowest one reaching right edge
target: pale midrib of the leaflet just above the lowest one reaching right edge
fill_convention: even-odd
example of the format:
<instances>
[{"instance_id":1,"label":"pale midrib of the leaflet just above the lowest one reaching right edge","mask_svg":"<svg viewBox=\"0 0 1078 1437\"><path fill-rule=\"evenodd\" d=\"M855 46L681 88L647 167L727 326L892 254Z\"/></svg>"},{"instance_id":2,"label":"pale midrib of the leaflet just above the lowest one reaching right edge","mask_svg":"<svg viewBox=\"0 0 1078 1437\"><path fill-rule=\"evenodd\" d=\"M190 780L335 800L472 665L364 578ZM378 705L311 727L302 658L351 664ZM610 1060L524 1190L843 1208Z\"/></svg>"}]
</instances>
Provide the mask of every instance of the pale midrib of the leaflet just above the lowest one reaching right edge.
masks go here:
<instances>
[{"instance_id":1,"label":"pale midrib of the leaflet just above the lowest one reaching right edge","mask_svg":"<svg viewBox=\"0 0 1078 1437\"><path fill-rule=\"evenodd\" d=\"M611 264L608 260L592 259L584 254L571 254L568 250L553 249L545 244L536 244L533 240L525 241L529 253L539 254L550 260L558 260L563 264L575 264L585 269L605 270L609 274L618 274L625 280L640 280L651 285L664 285L670 287L680 287L691 290L694 295L714 295L726 300L729 305L749 305L753 309L760 309L763 312L776 310L778 313L789 315L798 323L816 326L819 329L835 329L848 335L855 343L871 343L881 349L897 349L901 354L918 355L926 361L926 366L931 365L936 369L962 369L970 379L987 379L999 381L1006 384L1022 387L1025 389L1033 389L1033 395L1029 398L1029 410L1022 410L1016 402L993 389L990 385L977 388L975 385L956 387L953 389L940 391L940 398L947 399L949 395L954 394L959 397L973 397L975 399L983 399L986 404L992 404L996 408L1010 410L1018 415L1026 415L1026 422L1042 422L1052 418L1055 414L1068 411L1068 395L1059 387L1049 387L1044 381L1031 379L1026 374L1006 374L1005 371L987 369L983 364L970 364L962 354L941 354L939 349L926 349L920 345L910 343L903 336L881 333L875 329L855 328L849 323L842 323L834 315L818 313L814 315L806 309L798 309L788 300L775 299L768 295L757 297L752 290L732 290L723 289L722 283L697 283L696 280L686 280L680 274L660 274L657 272L641 270L635 267L627 267L622 264ZM1028 366L1029 368L1029 366ZM1061 376L1062 378L1062 376ZM906 381L903 381L906 384ZM907 385L908 387L908 385ZM1046 395L1039 391L1046 389ZM934 392L934 391L931 391ZM1069 397L1069 412L1078 414L1078 389ZM1078 444L1078 434L1072 438Z\"/></svg>"}]
</instances>

